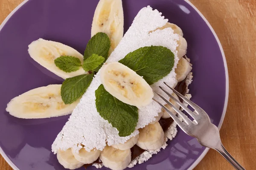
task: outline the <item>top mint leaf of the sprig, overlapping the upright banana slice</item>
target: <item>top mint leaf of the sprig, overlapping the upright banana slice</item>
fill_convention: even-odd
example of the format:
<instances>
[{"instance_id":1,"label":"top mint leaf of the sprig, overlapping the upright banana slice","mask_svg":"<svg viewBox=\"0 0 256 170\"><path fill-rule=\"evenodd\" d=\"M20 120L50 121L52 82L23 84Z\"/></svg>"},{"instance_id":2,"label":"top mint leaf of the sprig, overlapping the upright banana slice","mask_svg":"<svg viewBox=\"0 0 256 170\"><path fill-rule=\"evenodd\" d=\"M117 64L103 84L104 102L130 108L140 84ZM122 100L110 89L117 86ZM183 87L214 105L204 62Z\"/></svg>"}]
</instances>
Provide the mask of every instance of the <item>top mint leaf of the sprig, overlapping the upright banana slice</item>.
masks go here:
<instances>
[{"instance_id":1,"label":"top mint leaf of the sprig, overlapping the upright banana slice","mask_svg":"<svg viewBox=\"0 0 256 170\"><path fill-rule=\"evenodd\" d=\"M110 40L108 35L103 32L99 32L89 40L84 51L84 60L90 57L92 54L98 54L99 56L107 59L109 48Z\"/></svg>"}]
</instances>

